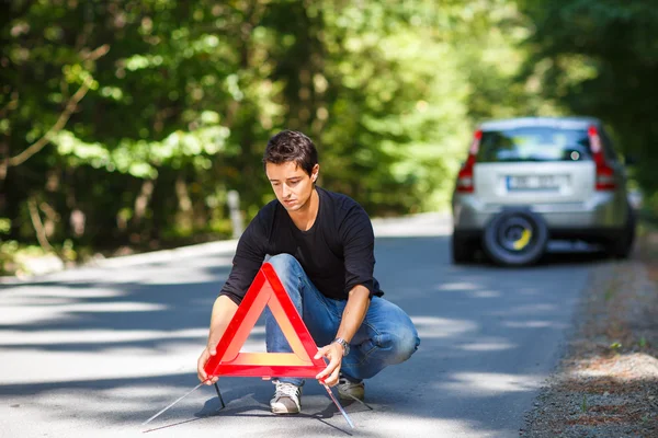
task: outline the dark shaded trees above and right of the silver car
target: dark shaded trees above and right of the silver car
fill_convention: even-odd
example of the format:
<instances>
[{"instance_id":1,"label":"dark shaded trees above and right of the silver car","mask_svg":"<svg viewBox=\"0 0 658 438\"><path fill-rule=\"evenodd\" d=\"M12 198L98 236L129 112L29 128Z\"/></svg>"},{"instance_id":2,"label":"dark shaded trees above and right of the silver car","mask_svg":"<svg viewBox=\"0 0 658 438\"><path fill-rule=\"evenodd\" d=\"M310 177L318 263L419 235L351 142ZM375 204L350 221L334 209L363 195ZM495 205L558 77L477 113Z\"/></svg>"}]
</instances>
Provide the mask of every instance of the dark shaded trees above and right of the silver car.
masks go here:
<instances>
[{"instance_id":1,"label":"dark shaded trees above and right of the silver car","mask_svg":"<svg viewBox=\"0 0 658 438\"><path fill-rule=\"evenodd\" d=\"M658 9L651 0L520 0L533 21L525 77L567 113L602 118L638 162L635 177L658 212Z\"/></svg>"}]
</instances>

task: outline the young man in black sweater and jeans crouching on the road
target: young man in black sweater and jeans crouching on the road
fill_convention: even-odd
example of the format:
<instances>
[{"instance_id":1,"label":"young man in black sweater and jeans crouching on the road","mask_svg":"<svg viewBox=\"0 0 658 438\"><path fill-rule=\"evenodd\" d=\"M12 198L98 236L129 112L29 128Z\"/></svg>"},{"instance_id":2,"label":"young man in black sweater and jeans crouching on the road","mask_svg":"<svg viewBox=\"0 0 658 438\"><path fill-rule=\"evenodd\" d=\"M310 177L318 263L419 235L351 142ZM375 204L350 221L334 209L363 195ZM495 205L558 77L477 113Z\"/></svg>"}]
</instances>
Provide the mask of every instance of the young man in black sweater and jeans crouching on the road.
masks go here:
<instances>
[{"instance_id":1,"label":"young man in black sweater and jeans crouching on the road","mask_svg":"<svg viewBox=\"0 0 658 438\"><path fill-rule=\"evenodd\" d=\"M420 339L409 316L382 298L373 278L375 265L372 223L351 198L316 186L319 164L313 141L285 130L270 139L263 157L265 174L276 200L263 207L240 241L232 269L213 307L207 347L198 358L204 366L247 289L269 255L316 344L317 357L329 360L317 376L341 399L363 400L363 379L388 365L407 360ZM269 353L291 353L279 324L265 308ZM213 384L213 378L207 384ZM270 405L274 414L300 410L304 380L274 379Z\"/></svg>"}]
</instances>

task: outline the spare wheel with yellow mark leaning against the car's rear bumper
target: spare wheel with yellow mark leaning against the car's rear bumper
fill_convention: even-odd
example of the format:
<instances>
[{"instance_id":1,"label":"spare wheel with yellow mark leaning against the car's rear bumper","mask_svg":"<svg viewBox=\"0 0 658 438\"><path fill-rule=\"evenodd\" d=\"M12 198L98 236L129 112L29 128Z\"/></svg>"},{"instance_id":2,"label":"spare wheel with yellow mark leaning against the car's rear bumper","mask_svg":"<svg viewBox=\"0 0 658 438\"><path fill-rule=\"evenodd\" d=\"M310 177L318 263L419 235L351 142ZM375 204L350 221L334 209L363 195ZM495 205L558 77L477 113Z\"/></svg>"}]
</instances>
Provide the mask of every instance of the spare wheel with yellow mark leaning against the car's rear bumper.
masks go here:
<instances>
[{"instance_id":1,"label":"spare wheel with yellow mark leaning against the car's rear bumper","mask_svg":"<svg viewBox=\"0 0 658 438\"><path fill-rule=\"evenodd\" d=\"M544 219L529 209L506 209L496 215L483 237L487 255L499 265L531 265L542 257L548 243Z\"/></svg>"}]
</instances>

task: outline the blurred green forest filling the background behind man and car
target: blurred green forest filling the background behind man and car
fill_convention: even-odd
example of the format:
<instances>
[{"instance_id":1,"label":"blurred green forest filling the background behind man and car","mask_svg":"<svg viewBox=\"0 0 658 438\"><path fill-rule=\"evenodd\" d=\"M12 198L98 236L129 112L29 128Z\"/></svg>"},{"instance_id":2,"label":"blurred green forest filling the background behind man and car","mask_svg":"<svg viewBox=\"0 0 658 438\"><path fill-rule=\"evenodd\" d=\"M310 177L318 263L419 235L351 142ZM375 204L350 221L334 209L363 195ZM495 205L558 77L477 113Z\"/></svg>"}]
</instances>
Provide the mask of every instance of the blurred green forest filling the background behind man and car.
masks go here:
<instances>
[{"instance_id":1,"label":"blurred green forest filling the background behind man and car","mask_svg":"<svg viewBox=\"0 0 658 438\"><path fill-rule=\"evenodd\" d=\"M591 115L655 217L651 3L2 1L0 273L230 238L284 128L382 217L447 208L478 122Z\"/></svg>"}]
</instances>

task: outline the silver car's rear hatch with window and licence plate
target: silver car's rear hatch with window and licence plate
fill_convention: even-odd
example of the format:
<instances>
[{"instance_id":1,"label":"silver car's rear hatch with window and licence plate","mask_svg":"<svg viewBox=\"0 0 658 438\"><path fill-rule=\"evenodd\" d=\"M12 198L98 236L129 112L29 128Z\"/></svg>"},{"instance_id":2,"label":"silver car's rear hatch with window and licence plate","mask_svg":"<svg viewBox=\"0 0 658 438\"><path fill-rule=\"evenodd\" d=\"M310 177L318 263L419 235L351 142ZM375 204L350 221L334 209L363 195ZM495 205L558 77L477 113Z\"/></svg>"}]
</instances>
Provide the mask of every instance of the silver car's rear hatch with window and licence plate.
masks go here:
<instances>
[{"instance_id":1,"label":"silver car's rear hatch with window and licence plate","mask_svg":"<svg viewBox=\"0 0 658 438\"><path fill-rule=\"evenodd\" d=\"M483 129L473 176L485 204L586 201L597 178L587 126Z\"/></svg>"}]
</instances>

